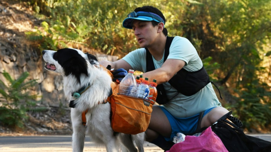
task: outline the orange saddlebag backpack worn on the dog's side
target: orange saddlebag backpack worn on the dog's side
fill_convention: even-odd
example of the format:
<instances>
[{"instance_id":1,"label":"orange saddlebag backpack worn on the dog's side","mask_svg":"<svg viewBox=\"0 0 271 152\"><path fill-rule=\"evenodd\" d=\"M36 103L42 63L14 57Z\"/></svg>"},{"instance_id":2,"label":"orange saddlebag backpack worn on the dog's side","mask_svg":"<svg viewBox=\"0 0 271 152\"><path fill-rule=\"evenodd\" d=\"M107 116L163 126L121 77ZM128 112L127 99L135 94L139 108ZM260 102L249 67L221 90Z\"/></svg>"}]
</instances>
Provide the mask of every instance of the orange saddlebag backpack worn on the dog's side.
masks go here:
<instances>
[{"instance_id":1,"label":"orange saddlebag backpack worn on the dog's side","mask_svg":"<svg viewBox=\"0 0 271 152\"><path fill-rule=\"evenodd\" d=\"M111 127L115 132L138 134L147 130L151 118L153 102L118 94L119 84L112 82Z\"/></svg>"}]
</instances>

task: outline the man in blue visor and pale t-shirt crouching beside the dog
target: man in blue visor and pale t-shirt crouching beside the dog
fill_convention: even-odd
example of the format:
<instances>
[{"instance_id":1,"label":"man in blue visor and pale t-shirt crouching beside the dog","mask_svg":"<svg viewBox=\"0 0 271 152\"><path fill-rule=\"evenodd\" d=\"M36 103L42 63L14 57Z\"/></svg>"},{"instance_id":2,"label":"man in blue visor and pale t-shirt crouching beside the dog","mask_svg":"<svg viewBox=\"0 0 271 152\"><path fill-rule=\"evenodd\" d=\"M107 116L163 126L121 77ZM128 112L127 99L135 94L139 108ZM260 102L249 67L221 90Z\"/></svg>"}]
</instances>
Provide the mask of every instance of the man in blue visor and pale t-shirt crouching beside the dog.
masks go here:
<instances>
[{"instance_id":1,"label":"man in blue visor and pale t-shirt crouching beside the dog","mask_svg":"<svg viewBox=\"0 0 271 152\"><path fill-rule=\"evenodd\" d=\"M157 100L163 99L158 102L163 105L153 106L145 133L146 141L169 150L178 132L191 135L197 129L211 126L228 110L217 99L191 42L183 37L168 37L164 25L165 17L157 8L136 8L124 19L123 26L134 31L141 48L118 61L104 60L100 64L138 70L144 72L144 77L161 84L162 88L157 90L164 93Z\"/></svg>"}]
</instances>

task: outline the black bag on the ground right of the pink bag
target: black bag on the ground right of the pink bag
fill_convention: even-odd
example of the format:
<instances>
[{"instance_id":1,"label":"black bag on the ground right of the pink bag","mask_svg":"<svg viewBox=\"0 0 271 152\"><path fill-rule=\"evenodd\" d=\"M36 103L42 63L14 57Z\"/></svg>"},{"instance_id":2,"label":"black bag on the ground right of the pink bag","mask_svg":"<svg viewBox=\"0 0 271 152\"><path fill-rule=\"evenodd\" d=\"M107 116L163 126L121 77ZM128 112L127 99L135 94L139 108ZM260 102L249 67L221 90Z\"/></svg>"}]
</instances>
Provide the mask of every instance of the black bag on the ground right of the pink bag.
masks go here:
<instances>
[{"instance_id":1,"label":"black bag on the ground right of the pink bag","mask_svg":"<svg viewBox=\"0 0 271 152\"><path fill-rule=\"evenodd\" d=\"M229 152L271 152L271 142L246 135L240 128L242 122L232 117L231 113L224 115L211 126Z\"/></svg>"}]
</instances>

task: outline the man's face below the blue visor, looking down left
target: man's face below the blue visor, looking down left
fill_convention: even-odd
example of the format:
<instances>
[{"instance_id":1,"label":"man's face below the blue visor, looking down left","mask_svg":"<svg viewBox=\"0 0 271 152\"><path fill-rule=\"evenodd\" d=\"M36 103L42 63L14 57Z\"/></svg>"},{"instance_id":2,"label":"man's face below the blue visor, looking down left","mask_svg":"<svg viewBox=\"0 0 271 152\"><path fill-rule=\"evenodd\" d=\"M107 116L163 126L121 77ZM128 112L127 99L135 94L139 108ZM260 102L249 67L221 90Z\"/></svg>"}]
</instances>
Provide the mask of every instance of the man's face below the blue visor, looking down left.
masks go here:
<instances>
[{"instance_id":1,"label":"man's face below the blue visor, looking down left","mask_svg":"<svg viewBox=\"0 0 271 152\"><path fill-rule=\"evenodd\" d=\"M153 44L158 35L157 26L153 27L151 21L140 20L134 20L132 25L137 42L141 48L148 47Z\"/></svg>"}]
</instances>

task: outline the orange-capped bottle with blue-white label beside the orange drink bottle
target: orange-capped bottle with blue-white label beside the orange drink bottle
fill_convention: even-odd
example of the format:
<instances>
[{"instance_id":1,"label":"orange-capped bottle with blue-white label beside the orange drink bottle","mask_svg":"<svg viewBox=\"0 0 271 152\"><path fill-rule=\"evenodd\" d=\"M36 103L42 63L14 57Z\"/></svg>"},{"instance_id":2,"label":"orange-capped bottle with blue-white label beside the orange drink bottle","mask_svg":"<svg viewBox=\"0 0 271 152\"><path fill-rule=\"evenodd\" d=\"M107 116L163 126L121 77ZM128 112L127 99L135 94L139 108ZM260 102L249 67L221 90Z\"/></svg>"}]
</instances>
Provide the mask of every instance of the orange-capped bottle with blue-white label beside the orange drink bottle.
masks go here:
<instances>
[{"instance_id":1,"label":"orange-capped bottle with blue-white label beside the orange drink bottle","mask_svg":"<svg viewBox=\"0 0 271 152\"><path fill-rule=\"evenodd\" d=\"M148 100L148 98L149 98L149 81L148 81L148 78L145 78L145 80L142 80L142 83L137 87L136 98L141 98L141 99Z\"/></svg>"}]
</instances>

